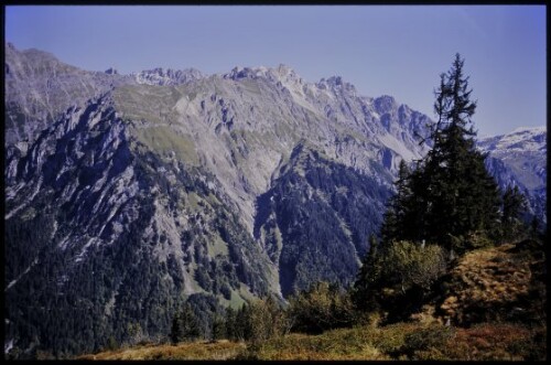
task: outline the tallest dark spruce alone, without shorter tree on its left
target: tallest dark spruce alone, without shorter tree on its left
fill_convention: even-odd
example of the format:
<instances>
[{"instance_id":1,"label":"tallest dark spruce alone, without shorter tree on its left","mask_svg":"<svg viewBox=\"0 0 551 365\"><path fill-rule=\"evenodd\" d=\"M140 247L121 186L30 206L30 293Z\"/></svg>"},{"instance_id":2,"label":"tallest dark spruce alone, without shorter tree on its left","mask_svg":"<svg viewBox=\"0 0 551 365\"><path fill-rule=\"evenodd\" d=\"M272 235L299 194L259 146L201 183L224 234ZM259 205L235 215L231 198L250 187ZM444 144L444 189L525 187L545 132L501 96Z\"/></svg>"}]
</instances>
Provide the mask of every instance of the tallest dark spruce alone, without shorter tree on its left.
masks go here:
<instances>
[{"instance_id":1,"label":"tallest dark spruce alone, without shorter tree on its left","mask_svg":"<svg viewBox=\"0 0 551 365\"><path fill-rule=\"evenodd\" d=\"M474 230L490 233L498 222L499 191L485 168L485 155L475 148L471 118L476 101L471 100L473 90L463 65L464 60L456 54L452 68L441 75L434 103L439 119L431 131L434 144L420 174L421 195L428 203L425 235L435 243L450 243L450 235Z\"/></svg>"}]
</instances>

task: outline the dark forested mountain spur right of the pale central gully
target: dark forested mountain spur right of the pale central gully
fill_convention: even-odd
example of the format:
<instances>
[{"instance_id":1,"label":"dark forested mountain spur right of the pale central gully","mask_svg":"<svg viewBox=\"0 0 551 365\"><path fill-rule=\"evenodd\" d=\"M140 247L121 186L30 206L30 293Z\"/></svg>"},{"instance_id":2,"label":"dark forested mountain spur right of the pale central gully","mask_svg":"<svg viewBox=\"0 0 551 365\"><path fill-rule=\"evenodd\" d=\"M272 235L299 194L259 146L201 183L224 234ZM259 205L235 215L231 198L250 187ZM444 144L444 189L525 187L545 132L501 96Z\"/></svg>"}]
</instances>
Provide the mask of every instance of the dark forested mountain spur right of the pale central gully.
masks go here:
<instances>
[{"instance_id":1,"label":"dark forested mountain spur right of the pale central gully","mask_svg":"<svg viewBox=\"0 0 551 365\"><path fill-rule=\"evenodd\" d=\"M390 190L300 143L257 201L255 237L280 268L284 296L317 281L350 285Z\"/></svg>"}]
</instances>

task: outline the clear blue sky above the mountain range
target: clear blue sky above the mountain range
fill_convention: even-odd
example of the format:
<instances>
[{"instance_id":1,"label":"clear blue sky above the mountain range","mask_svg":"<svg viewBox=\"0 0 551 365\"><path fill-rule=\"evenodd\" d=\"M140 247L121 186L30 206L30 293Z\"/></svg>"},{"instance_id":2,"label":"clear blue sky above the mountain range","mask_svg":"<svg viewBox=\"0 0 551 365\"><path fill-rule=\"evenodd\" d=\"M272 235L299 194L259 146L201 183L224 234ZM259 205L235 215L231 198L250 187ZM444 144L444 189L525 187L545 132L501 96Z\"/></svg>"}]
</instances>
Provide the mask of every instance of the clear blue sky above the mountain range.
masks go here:
<instances>
[{"instance_id":1,"label":"clear blue sky above the mountain range","mask_svg":"<svg viewBox=\"0 0 551 365\"><path fill-rule=\"evenodd\" d=\"M339 75L430 117L439 74L460 52L479 136L547 121L544 6L13 6L6 39L90 71L283 63L309 82Z\"/></svg>"}]
</instances>

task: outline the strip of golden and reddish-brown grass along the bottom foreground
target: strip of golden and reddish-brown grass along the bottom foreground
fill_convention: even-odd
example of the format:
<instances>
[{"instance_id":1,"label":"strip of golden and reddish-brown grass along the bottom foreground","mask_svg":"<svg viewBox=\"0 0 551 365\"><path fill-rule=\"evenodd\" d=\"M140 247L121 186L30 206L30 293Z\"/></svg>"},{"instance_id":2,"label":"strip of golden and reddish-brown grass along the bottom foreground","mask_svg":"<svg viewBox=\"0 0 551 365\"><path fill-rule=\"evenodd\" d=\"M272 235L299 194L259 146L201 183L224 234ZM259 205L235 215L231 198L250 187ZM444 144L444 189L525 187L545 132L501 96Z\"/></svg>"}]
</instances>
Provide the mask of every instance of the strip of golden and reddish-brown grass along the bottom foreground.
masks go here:
<instances>
[{"instance_id":1,"label":"strip of golden and reddish-brown grass along the bottom foreground","mask_svg":"<svg viewBox=\"0 0 551 365\"><path fill-rule=\"evenodd\" d=\"M471 329L397 323L320 335L292 333L248 345L227 341L141 345L78 359L543 359L544 332L507 323Z\"/></svg>"}]
</instances>

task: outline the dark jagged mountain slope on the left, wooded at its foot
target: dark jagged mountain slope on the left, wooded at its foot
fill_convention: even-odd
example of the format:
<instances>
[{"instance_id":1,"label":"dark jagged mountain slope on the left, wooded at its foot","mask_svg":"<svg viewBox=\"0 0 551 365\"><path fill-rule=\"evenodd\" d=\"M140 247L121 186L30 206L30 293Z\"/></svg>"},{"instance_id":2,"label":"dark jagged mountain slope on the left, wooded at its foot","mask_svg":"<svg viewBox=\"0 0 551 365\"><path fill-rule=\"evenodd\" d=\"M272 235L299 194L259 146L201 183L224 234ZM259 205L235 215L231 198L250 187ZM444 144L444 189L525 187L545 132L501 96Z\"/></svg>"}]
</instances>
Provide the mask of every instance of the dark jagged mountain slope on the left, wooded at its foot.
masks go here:
<instances>
[{"instance_id":1,"label":"dark jagged mountain slope on the left, wooded at its foot","mask_svg":"<svg viewBox=\"0 0 551 365\"><path fill-rule=\"evenodd\" d=\"M130 324L162 336L186 297L240 303L273 291L268 259L212 175L139 152L127 127L101 97L69 110L19 163L4 286L7 337L20 348L95 351L129 337Z\"/></svg>"}]
</instances>

